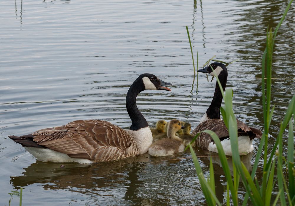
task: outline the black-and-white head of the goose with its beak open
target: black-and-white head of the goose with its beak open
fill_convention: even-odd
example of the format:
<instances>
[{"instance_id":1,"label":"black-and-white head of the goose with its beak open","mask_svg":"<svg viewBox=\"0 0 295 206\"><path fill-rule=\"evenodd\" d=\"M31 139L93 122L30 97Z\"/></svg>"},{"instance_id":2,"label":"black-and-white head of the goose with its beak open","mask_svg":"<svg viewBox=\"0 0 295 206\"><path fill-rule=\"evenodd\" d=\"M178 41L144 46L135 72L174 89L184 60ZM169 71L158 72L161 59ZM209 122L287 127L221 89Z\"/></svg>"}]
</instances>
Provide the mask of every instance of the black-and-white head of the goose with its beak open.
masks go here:
<instances>
[{"instance_id":1,"label":"black-and-white head of the goose with its beak open","mask_svg":"<svg viewBox=\"0 0 295 206\"><path fill-rule=\"evenodd\" d=\"M138 77L138 79L142 79L142 83L144 86L144 90L150 89L150 90L166 90L171 91L168 87L164 86L172 86L171 83L164 82L161 79L159 79L154 74L142 74Z\"/></svg>"}]
</instances>

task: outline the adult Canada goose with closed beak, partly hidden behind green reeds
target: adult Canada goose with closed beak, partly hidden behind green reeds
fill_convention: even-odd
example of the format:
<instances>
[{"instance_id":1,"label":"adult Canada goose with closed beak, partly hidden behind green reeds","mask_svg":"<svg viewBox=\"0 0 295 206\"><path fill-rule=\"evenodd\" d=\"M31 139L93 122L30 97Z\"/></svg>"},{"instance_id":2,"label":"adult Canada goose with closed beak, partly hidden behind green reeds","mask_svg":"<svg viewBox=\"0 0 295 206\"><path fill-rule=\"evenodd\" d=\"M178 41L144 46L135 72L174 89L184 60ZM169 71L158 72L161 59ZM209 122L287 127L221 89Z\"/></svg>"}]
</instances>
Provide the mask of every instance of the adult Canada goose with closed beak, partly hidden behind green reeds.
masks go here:
<instances>
[{"instance_id":1,"label":"adult Canada goose with closed beak, partly hidden behind green reeds","mask_svg":"<svg viewBox=\"0 0 295 206\"><path fill-rule=\"evenodd\" d=\"M212 67L212 68L211 68ZM213 69L213 71L212 71ZM208 67L198 70L198 72L209 73L212 76L218 77L223 90L226 86L227 81L227 68L221 63L212 63ZM222 102L222 94L219 89L219 85L216 82L215 93L212 102L207 109L206 113L202 117L200 124L194 129L192 135L196 135L205 129L210 129L217 134L219 137L225 155L232 155L232 149L230 146L230 138L228 130L220 119L220 106ZM243 122L237 120L238 128L238 145L240 155L247 155L253 151L252 141L256 138L261 138L261 131L252 127L248 127ZM196 145L202 149L207 149L212 152L218 152L216 144L212 137L207 133L201 133L196 139Z\"/></svg>"}]
</instances>

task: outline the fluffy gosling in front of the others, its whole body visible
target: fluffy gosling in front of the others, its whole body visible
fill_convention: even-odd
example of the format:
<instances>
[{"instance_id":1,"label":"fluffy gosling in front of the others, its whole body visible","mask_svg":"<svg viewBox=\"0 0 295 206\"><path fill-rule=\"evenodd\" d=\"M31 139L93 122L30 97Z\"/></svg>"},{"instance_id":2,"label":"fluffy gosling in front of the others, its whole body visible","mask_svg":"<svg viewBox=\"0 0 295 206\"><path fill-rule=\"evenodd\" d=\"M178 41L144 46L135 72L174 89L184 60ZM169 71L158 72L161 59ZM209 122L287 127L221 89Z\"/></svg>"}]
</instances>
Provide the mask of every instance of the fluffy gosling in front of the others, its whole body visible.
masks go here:
<instances>
[{"instance_id":1,"label":"fluffy gosling in front of the others, its whole body visible","mask_svg":"<svg viewBox=\"0 0 295 206\"><path fill-rule=\"evenodd\" d=\"M167 136L168 138L161 139L154 142L148 149L148 153L154 157L161 157L167 155L177 154L183 152L184 145L180 137L175 133L181 129L181 122L177 119L172 119L168 125Z\"/></svg>"}]
</instances>

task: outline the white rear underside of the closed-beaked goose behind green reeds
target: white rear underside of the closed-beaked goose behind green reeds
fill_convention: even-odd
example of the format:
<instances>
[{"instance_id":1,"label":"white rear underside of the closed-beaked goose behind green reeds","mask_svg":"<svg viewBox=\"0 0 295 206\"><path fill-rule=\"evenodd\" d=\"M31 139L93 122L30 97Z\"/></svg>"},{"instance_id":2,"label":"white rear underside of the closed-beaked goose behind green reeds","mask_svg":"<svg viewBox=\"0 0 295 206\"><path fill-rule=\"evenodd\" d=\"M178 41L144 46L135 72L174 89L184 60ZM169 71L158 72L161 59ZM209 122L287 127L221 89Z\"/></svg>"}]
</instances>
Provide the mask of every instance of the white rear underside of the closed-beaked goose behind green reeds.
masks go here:
<instances>
[{"instance_id":1,"label":"white rear underside of the closed-beaked goose behind green reeds","mask_svg":"<svg viewBox=\"0 0 295 206\"><path fill-rule=\"evenodd\" d=\"M232 148L230 146L230 138L224 139L221 141L221 145L223 147L225 155L232 156ZM250 152L253 152L252 140L250 140L249 136L240 136L238 137L238 145L239 145L239 155L248 155ZM210 142L208 146L208 150L211 152L217 152L216 144Z\"/></svg>"}]
</instances>

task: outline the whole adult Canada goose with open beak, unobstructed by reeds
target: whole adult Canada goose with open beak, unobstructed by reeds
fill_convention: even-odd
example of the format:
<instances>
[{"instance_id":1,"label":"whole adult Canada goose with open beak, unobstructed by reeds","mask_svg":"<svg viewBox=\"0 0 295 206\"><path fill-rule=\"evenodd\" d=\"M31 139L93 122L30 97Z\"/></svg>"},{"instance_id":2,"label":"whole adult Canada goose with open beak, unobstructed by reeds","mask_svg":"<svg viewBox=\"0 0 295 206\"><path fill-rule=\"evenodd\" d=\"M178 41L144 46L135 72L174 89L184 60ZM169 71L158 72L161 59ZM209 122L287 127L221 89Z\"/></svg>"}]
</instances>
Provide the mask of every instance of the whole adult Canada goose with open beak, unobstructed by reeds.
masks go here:
<instances>
[{"instance_id":1,"label":"whole adult Canada goose with open beak, unobstructed by reeds","mask_svg":"<svg viewBox=\"0 0 295 206\"><path fill-rule=\"evenodd\" d=\"M77 120L9 138L43 162L106 162L143 154L148 151L153 137L148 122L136 106L136 97L146 89L171 91L164 85L172 84L153 74L142 74L133 82L126 96L126 108L132 121L130 129L103 120Z\"/></svg>"}]
</instances>

